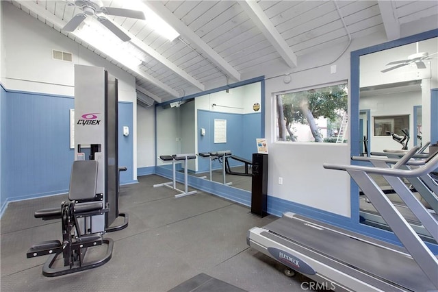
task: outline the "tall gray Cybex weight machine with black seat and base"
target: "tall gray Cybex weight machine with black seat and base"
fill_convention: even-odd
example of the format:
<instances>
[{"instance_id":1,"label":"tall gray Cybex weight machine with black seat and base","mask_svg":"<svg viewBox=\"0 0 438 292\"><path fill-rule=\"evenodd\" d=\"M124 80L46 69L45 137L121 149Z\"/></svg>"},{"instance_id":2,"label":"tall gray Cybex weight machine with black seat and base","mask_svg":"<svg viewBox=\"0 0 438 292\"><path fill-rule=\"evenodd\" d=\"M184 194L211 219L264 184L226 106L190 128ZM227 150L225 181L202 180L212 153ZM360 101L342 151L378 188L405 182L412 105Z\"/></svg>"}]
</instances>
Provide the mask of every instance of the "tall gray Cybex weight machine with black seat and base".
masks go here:
<instances>
[{"instance_id":1,"label":"tall gray Cybex weight machine with black seat and base","mask_svg":"<svg viewBox=\"0 0 438 292\"><path fill-rule=\"evenodd\" d=\"M61 219L62 242L33 245L27 258L50 255L42 268L54 277L99 267L112 257L106 232L126 228L128 216L118 212L118 80L101 67L75 65L75 161L68 200L61 208L38 210L36 218ZM118 217L119 226L112 226ZM107 245L103 257L87 256L88 248ZM57 266L62 254L64 266ZM99 254L99 253L98 253Z\"/></svg>"}]
</instances>

